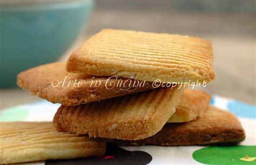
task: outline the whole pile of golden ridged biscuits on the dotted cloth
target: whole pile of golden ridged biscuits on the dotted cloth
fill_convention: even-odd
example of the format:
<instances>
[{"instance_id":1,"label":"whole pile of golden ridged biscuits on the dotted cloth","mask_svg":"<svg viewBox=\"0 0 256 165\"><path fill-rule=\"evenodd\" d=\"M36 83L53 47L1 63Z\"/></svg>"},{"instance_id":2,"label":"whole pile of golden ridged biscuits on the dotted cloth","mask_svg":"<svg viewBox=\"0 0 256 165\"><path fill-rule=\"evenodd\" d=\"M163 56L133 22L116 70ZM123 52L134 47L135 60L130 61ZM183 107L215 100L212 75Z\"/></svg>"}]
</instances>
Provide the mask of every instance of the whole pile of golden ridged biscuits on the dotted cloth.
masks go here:
<instances>
[{"instance_id":1,"label":"whole pile of golden ridged biscuits on the dotted cloth","mask_svg":"<svg viewBox=\"0 0 256 165\"><path fill-rule=\"evenodd\" d=\"M53 123L1 123L0 163L99 156L106 142L236 144L245 139L238 119L191 89L215 78L212 60L204 39L102 30L67 62L17 76L19 87L62 105Z\"/></svg>"}]
</instances>

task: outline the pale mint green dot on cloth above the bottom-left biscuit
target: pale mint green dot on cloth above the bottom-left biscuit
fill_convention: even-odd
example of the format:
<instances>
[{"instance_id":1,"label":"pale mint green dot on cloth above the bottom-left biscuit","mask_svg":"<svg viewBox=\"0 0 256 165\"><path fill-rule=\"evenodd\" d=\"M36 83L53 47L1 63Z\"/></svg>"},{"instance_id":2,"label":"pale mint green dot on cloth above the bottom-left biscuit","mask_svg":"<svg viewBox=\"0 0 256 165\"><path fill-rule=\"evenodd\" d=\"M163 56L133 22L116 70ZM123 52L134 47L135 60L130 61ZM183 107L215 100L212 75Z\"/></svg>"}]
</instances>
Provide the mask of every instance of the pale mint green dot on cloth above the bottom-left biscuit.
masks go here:
<instances>
[{"instance_id":1,"label":"pale mint green dot on cloth above the bottom-left biscuit","mask_svg":"<svg viewBox=\"0 0 256 165\"><path fill-rule=\"evenodd\" d=\"M21 121L28 116L29 112L20 107L11 107L0 112L0 121Z\"/></svg>"}]
</instances>

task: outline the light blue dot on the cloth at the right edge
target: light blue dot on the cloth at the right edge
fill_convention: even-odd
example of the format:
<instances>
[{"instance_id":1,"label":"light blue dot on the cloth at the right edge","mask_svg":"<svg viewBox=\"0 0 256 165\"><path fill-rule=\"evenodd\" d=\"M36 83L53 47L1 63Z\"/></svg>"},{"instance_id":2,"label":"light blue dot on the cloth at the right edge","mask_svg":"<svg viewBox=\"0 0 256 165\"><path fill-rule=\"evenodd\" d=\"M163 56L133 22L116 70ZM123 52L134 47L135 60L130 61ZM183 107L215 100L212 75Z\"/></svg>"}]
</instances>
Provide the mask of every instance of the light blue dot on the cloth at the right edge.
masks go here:
<instances>
[{"instance_id":1,"label":"light blue dot on the cloth at the right edge","mask_svg":"<svg viewBox=\"0 0 256 165\"><path fill-rule=\"evenodd\" d=\"M238 101L230 101L227 104L227 108L238 117L256 118L256 106Z\"/></svg>"}]
</instances>

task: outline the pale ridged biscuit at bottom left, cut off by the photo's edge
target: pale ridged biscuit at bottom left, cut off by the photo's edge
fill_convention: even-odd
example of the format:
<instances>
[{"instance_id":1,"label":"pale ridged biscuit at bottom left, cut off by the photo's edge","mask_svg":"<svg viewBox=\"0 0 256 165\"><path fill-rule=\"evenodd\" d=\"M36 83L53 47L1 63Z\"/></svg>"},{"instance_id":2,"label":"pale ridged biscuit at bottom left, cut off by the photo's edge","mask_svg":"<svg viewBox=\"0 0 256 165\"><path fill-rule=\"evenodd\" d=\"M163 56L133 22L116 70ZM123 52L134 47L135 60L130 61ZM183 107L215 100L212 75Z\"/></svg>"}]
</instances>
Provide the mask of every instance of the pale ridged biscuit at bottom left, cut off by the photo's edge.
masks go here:
<instances>
[{"instance_id":1,"label":"pale ridged biscuit at bottom left, cut off by the photo's edge","mask_svg":"<svg viewBox=\"0 0 256 165\"><path fill-rule=\"evenodd\" d=\"M0 163L104 155L106 143L58 132L52 122L0 123Z\"/></svg>"}]
</instances>

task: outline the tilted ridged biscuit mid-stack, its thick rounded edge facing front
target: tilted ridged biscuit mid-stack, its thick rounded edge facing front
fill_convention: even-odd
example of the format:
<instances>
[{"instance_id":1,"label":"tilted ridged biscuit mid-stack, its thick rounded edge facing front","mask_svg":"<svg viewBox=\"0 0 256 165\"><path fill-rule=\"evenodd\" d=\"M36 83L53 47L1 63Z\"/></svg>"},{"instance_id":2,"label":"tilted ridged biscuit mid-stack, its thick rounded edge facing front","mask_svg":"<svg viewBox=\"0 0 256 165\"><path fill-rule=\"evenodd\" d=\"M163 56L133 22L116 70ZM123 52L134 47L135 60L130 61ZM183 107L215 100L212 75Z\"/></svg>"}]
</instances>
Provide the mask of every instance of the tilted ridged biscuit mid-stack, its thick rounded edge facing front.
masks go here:
<instances>
[{"instance_id":1,"label":"tilted ridged biscuit mid-stack, its thick rounded edge facing front","mask_svg":"<svg viewBox=\"0 0 256 165\"><path fill-rule=\"evenodd\" d=\"M183 88L159 88L77 106L60 106L58 131L89 137L137 140L151 137L175 112Z\"/></svg>"}]
</instances>

